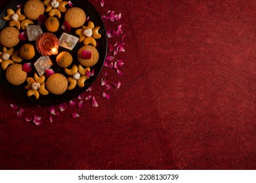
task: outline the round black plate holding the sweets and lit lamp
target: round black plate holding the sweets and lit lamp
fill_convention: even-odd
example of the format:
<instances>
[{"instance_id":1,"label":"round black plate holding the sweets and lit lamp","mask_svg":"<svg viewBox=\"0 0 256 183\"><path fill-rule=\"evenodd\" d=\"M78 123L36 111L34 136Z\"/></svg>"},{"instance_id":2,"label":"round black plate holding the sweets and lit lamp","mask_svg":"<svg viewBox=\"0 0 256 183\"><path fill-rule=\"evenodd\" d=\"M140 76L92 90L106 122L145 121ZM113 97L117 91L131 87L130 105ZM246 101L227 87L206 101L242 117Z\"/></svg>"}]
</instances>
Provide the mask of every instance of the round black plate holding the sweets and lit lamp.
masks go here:
<instances>
[{"instance_id":1,"label":"round black plate holding the sweets and lit lamp","mask_svg":"<svg viewBox=\"0 0 256 183\"><path fill-rule=\"evenodd\" d=\"M20 4L24 5L26 3L26 1L25 0L12 1L7 7L5 7L1 11L0 30L7 27L9 24L9 21L5 21L2 19L3 16L7 15L6 10L8 8L11 8L12 10L16 11L16 9L18 9L17 5L20 5ZM68 0L66 0L66 1L68 1ZM1 88L5 87L5 88L7 88L8 92L9 91L12 92L13 95L18 95L18 97L24 98L26 101L30 101L32 103L36 103L39 105L53 105L53 104L63 103L63 102L69 101L71 99L74 99L81 93L85 92L85 90L87 90L89 88L89 86L91 86L93 84L93 82L96 80L97 76L100 74L100 71L104 65L104 60L106 58L107 45L108 45L106 29L104 27L104 23L102 22L100 14L98 14L95 7L93 7L93 5L91 5L91 3L89 3L89 1L72 0L72 3L74 5L73 7L79 7L85 11L86 16L87 17L89 16L89 20L91 20L95 24L95 27L100 26L100 30L98 32L102 36L100 39L96 39L96 42L98 42L96 49L98 50L98 53L99 53L99 59L98 59L98 62L96 63L96 65L91 67L91 70L95 69L95 75L91 76L91 78L89 78L89 80L85 81L85 86L83 88L79 88L79 86L76 86L74 90L71 90L71 91L67 90L62 95L53 95L53 94L49 93L49 95L45 95L45 96L40 95L39 99L35 99L34 96L27 97L28 90L24 89L24 86L26 86L26 84L27 84L26 82L24 82L24 84L22 84L20 86L12 86L11 84L9 84L9 82L5 78L5 71L3 71L3 69L0 67ZM68 5L66 7L68 7ZM23 10L22 10L22 14L24 14ZM45 15L48 17L47 12L45 12ZM61 28L61 25L64 22L64 13L62 13L62 16L61 16L59 22L60 22L60 27L59 27L58 31L56 33L54 33L58 38L62 35L62 33L64 33L64 31ZM85 23L85 25L86 24L87 23ZM37 25L37 21L34 21L34 25ZM47 32L45 25L41 25L41 28L43 29L43 33ZM70 31L69 34L74 35L75 37L79 37L78 35L75 35L75 30L76 29L72 28L72 30ZM22 31L23 30L20 29L20 32L22 32ZM22 44L26 44L26 43L30 43L35 46L35 41L20 41L19 44L14 47L14 51L19 50L20 46L22 46ZM72 56L73 56L72 65L75 64L78 66L79 61L77 60L77 51L79 50L79 48L81 48L81 46L83 46L83 42L81 42L81 43L77 42L77 44L75 45L75 48L73 50L67 50L66 48L59 47L58 52L59 53L62 51L70 52L70 54L72 54ZM1 51L2 51L2 48L3 47L1 46ZM27 62L32 63L32 72L28 73L28 76L33 77L33 73L36 72L35 67L33 66L33 63L40 57L41 57L41 55L37 52L37 50L35 50L35 57L33 59L31 59L31 60L24 59L21 62L21 64L24 64ZM50 56L50 58L51 58L51 61L53 62L53 67L51 67L51 69L53 69L55 73L61 73L64 76L68 76L64 72L64 69L59 67L56 64L56 56ZM68 67L68 69L70 69L72 67L72 65L70 65L70 67Z\"/></svg>"}]
</instances>

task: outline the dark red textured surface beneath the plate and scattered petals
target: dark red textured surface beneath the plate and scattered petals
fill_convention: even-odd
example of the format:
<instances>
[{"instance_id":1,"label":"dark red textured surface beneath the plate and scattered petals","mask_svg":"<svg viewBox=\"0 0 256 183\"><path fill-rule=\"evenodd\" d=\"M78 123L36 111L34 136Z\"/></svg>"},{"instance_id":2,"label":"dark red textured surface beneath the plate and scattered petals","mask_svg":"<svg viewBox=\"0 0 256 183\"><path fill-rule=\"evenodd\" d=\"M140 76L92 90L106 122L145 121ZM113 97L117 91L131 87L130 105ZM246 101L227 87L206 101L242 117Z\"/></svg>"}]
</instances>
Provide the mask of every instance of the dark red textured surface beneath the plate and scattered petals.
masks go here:
<instances>
[{"instance_id":1,"label":"dark red textured surface beneath the plate and scattered petals","mask_svg":"<svg viewBox=\"0 0 256 183\"><path fill-rule=\"evenodd\" d=\"M255 169L256 1L91 3L122 14L121 88L39 126L1 89L0 168Z\"/></svg>"}]
</instances>

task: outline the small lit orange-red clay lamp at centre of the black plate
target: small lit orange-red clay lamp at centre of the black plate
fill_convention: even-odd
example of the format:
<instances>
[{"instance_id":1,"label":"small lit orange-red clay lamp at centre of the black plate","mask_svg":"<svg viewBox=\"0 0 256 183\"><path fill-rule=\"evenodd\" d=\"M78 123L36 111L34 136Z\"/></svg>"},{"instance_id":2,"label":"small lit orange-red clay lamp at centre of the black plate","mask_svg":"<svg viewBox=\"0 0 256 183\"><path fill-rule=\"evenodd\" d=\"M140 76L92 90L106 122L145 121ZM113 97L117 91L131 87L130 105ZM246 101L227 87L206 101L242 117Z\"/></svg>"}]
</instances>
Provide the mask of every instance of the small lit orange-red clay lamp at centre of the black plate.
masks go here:
<instances>
[{"instance_id":1,"label":"small lit orange-red clay lamp at centre of the black plate","mask_svg":"<svg viewBox=\"0 0 256 183\"><path fill-rule=\"evenodd\" d=\"M58 37L53 33L43 33L35 42L37 51L43 56L58 54L58 45Z\"/></svg>"}]
</instances>

